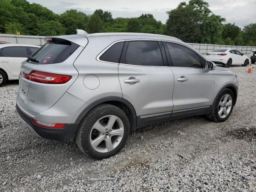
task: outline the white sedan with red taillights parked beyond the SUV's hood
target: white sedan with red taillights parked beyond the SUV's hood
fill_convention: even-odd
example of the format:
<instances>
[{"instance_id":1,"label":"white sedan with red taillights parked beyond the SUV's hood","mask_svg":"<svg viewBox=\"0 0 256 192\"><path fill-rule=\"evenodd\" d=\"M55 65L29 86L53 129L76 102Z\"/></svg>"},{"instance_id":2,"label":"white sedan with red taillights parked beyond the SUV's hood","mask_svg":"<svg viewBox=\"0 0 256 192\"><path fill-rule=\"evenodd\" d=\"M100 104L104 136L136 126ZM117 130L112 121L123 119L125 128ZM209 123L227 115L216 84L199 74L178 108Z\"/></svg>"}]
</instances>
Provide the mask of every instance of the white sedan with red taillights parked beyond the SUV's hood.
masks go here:
<instances>
[{"instance_id":1,"label":"white sedan with red taillights parked beyond the SUV's hood","mask_svg":"<svg viewBox=\"0 0 256 192\"><path fill-rule=\"evenodd\" d=\"M249 58L236 49L215 49L206 54L208 61L216 64L222 64L225 67L231 65L247 66Z\"/></svg>"}]
</instances>

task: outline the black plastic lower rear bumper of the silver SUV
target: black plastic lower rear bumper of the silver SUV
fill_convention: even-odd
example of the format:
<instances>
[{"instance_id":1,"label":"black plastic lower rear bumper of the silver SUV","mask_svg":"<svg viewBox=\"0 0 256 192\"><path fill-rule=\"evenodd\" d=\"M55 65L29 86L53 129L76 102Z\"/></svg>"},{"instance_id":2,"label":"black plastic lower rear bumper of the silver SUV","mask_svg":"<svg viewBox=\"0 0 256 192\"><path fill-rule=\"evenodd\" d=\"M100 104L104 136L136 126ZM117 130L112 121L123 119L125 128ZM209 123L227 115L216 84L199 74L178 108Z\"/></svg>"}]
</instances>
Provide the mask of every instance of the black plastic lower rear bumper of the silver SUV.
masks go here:
<instances>
[{"instance_id":1,"label":"black plastic lower rear bumper of the silver SUV","mask_svg":"<svg viewBox=\"0 0 256 192\"><path fill-rule=\"evenodd\" d=\"M35 125L32 121L32 119L26 115L22 110L19 108L19 106L16 104L16 110L18 112L18 115L32 132L36 134L39 137L50 139L50 140L56 140L56 141L73 141L76 136L76 130L78 128L78 124L66 124L64 128L44 128L38 125Z\"/></svg>"}]
</instances>

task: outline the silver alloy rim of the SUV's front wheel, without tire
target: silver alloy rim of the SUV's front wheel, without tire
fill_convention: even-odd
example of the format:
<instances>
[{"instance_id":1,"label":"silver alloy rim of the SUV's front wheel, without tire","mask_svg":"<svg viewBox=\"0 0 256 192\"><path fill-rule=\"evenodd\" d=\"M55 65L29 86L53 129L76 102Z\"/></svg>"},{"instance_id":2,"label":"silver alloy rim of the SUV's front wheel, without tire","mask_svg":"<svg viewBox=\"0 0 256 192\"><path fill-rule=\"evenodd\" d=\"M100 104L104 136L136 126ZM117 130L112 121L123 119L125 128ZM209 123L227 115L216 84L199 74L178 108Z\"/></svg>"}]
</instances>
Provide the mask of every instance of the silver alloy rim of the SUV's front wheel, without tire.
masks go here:
<instances>
[{"instance_id":1,"label":"silver alloy rim of the SUV's front wheel, without tire","mask_svg":"<svg viewBox=\"0 0 256 192\"><path fill-rule=\"evenodd\" d=\"M226 116L228 116L228 114L231 111L231 108L232 108L232 97L230 96L230 94L226 94L221 98L219 102L218 114L220 118L225 118Z\"/></svg>"}]
</instances>

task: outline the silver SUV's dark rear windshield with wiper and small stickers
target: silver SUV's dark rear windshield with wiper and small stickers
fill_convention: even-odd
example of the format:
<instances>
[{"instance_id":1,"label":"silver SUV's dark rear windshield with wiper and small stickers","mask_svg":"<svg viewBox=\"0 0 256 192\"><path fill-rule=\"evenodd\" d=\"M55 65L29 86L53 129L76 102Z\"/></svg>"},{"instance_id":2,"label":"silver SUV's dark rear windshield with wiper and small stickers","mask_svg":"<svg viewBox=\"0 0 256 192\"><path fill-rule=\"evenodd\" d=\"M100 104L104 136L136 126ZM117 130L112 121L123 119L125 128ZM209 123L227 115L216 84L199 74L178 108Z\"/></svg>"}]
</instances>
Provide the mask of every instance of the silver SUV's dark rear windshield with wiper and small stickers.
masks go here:
<instances>
[{"instance_id":1,"label":"silver SUV's dark rear windshield with wiper and small stickers","mask_svg":"<svg viewBox=\"0 0 256 192\"><path fill-rule=\"evenodd\" d=\"M38 61L38 63L33 62L30 59L28 59L27 62L34 64L61 63L78 47L79 45L64 39L49 38L46 44L31 55Z\"/></svg>"}]
</instances>

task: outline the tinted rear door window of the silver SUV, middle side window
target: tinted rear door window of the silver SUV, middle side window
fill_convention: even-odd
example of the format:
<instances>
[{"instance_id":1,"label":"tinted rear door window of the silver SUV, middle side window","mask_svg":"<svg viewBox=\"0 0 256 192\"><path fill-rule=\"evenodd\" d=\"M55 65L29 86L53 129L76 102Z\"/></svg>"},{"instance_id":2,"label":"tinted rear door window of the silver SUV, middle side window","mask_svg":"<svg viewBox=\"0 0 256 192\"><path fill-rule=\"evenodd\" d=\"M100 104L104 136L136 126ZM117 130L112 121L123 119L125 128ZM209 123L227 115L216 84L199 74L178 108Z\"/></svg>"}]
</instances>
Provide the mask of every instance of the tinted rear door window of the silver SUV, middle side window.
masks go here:
<instances>
[{"instance_id":1,"label":"tinted rear door window of the silver SUV, middle side window","mask_svg":"<svg viewBox=\"0 0 256 192\"><path fill-rule=\"evenodd\" d=\"M125 59L131 65L164 66L157 41L130 41Z\"/></svg>"}]
</instances>

